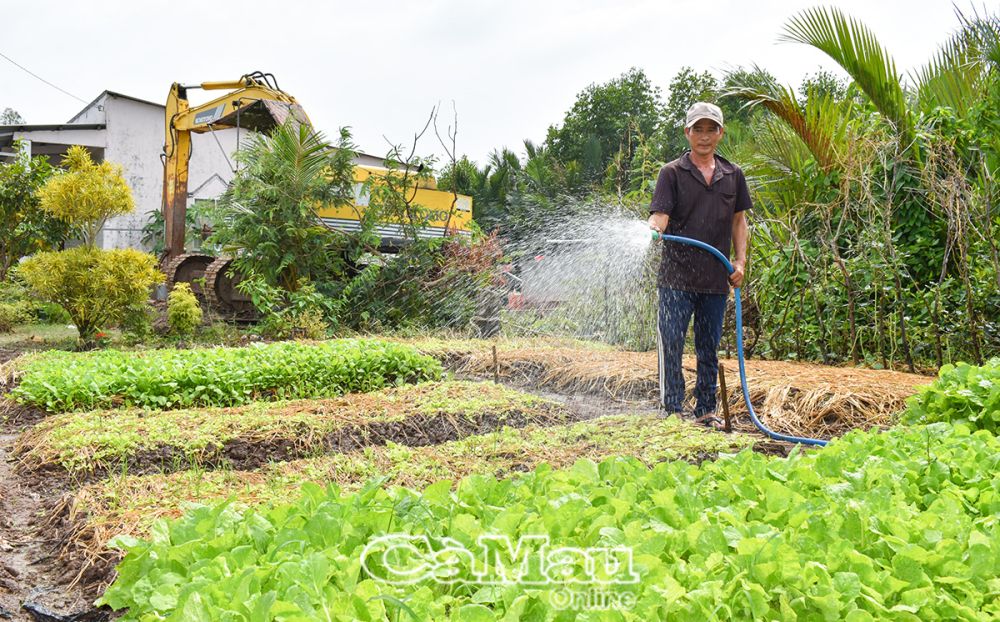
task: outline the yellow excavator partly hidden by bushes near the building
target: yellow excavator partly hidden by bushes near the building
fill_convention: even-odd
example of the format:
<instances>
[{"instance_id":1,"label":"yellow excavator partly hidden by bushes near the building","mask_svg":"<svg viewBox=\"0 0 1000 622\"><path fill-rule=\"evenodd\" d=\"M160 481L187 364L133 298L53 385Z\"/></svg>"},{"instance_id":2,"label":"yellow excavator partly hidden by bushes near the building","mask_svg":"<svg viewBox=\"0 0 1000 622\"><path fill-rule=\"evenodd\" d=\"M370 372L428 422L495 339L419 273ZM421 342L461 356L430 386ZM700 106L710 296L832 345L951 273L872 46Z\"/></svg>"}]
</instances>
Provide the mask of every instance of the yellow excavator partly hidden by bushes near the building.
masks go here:
<instances>
[{"instance_id":1,"label":"yellow excavator partly hidden by bushes near the building","mask_svg":"<svg viewBox=\"0 0 1000 622\"><path fill-rule=\"evenodd\" d=\"M209 102L191 106L188 91L225 90L225 94ZM302 106L294 97L278 88L269 73L248 73L228 82L202 82L182 85L174 83L167 96L163 146L163 219L166 223L166 254L163 259L167 286L177 282L191 284L195 294L218 311L232 317L253 315L247 296L236 287L239 276L229 276L232 258L213 257L203 253L186 253L188 172L191 158L191 134L236 128L265 133L285 123L289 117L298 123L310 124ZM229 154L227 154L228 156ZM360 219L368 205L363 192L370 176L390 175L388 168L356 165L354 168L355 200L353 205L322 206L317 217L326 226L343 233L360 230ZM413 189L413 204L429 214L419 237L440 237L451 233L471 233L472 198L438 190L434 180L421 180ZM406 243L400 223L380 222L376 228L383 248L397 249Z\"/></svg>"}]
</instances>

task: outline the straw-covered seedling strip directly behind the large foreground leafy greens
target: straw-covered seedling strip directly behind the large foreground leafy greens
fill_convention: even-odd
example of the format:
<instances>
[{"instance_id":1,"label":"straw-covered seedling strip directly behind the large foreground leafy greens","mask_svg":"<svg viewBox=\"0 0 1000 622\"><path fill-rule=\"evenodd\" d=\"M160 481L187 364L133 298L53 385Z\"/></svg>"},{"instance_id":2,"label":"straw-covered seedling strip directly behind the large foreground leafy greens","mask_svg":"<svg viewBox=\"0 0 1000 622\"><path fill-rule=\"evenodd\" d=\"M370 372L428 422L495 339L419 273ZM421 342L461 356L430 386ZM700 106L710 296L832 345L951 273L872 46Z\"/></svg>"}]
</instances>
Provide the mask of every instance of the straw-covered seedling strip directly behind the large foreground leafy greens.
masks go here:
<instances>
[{"instance_id":1,"label":"straw-covered seedling strip directly behind the large foreground leafy greens","mask_svg":"<svg viewBox=\"0 0 1000 622\"><path fill-rule=\"evenodd\" d=\"M86 515L82 536L100 549L114 535L142 536L160 518L173 518L192 503L236 498L248 505L284 501L304 482L353 490L373 478L385 485L421 488L471 474L504 477L540 465L567 467L581 458L600 461L634 456L647 465L710 457L753 444L751 437L724 435L655 415L615 415L570 425L501 431L428 447L388 444L292 462L253 472L193 469L169 475L122 473L85 486L72 513Z\"/></svg>"}]
</instances>

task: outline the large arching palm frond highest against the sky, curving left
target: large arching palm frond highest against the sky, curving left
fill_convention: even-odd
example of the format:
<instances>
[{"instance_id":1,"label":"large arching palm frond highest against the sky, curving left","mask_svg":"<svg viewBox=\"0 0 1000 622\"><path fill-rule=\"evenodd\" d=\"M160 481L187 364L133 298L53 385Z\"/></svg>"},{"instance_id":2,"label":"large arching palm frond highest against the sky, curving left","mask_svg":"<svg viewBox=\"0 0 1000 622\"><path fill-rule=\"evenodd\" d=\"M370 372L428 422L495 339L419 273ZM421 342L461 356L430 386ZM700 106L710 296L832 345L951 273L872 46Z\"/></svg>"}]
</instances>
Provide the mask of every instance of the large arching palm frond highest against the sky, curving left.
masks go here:
<instances>
[{"instance_id":1,"label":"large arching palm frond highest against the sky, curving left","mask_svg":"<svg viewBox=\"0 0 1000 622\"><path fill-rule=\"evenodd\" d=\"M780 40L811 45L836 61L903 134L904 144L911 142L913 119L896 63L863 23L839 9L807 9L789 20Z\"/></svg>"}]
</instances>

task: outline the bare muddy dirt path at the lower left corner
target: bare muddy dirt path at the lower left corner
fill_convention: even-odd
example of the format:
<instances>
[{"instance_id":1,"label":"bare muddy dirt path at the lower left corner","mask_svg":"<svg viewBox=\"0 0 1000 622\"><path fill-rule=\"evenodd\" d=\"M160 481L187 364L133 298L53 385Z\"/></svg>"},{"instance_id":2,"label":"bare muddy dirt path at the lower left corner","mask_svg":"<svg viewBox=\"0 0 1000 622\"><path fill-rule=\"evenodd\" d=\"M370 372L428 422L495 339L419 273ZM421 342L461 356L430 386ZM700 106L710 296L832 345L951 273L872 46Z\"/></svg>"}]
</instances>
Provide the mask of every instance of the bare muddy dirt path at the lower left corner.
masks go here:
<instances>
[{"instance_id":1,"label":"bare muddy dirt path at the lower left corner","mask_svg":"<svg viewBox=\"0 0 1000 622\"><path fill-rule=\"evenodd\" d=\"M31 481L8 461L17 436L0 434L0 619L25 622L93 622L82 589L67 586L57 542L41 522L63 492L58 484Z\"/></svg>"}]
</instances>

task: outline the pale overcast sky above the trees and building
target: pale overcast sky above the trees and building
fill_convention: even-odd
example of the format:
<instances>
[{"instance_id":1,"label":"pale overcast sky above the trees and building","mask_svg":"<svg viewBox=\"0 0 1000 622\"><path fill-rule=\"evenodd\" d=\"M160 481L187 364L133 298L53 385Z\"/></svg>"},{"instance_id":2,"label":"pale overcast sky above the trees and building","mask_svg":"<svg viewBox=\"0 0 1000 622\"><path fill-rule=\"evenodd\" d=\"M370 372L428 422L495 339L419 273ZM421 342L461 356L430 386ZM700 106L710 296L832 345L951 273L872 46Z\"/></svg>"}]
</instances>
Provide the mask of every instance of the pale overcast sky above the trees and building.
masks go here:
<instances>
[{"instance_id":1,"label":"pale overcast sky above the trees and building","mask_svg":"<svg viewBox=\"0 0 1000 622\"><path fill-rule=\"evenodd\" d=\"M664 95L686 65L721 74L756 63L792 84L833 69L822 53L777 41L791 16L817 4L0 0L0 53L85 102L105 89L163 102L175 81L270 72L328 135L350 126L361 149L378 155L386 138L411 142L438 103L443 131L454 102L458 150L482 162L495 148L521 153L525 138L541 141L577 93L632 66ZM833 5L874 30L904 73L958 26L945 0ZM0 58L0 109L29 123L61 123L83 106ZM441 151L432 134L419 150Z\"/></svg>"}]
</instances>

